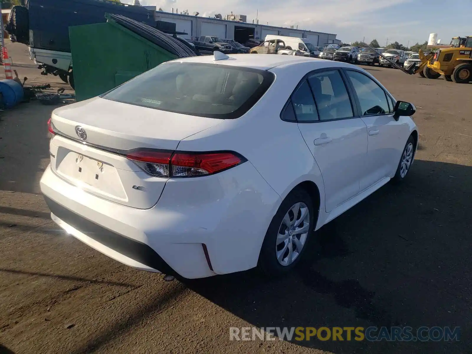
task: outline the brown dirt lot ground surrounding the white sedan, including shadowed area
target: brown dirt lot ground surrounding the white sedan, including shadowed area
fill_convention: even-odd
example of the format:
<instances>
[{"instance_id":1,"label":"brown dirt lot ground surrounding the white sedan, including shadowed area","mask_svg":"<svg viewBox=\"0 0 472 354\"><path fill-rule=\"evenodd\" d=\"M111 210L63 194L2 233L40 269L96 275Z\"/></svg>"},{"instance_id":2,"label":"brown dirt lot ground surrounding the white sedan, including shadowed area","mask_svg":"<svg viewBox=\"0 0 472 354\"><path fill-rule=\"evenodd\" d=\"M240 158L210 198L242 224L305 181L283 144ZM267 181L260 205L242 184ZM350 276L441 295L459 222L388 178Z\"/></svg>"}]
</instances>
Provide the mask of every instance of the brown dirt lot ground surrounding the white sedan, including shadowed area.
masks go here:
<instances>
[{"instance_id":1,"label":"brown dirt lot ground surrounding the white sedan, including shadowed area","mask_svg":"<svg viewBox=\"0 0 472 354\"><path fill-rule=\"evenodd\" d=\"M40 76L11 45L21 76ZM164 282L51 221L38 181L53 107L0 112L0 353L471 353L472 84L364 67L417 106L420 147L386 185L317 233L291 276ZM21 70L21 71L20 71ZM458 342L229 341L229 327L460 326Z\"/></svg>"}]
</instances>

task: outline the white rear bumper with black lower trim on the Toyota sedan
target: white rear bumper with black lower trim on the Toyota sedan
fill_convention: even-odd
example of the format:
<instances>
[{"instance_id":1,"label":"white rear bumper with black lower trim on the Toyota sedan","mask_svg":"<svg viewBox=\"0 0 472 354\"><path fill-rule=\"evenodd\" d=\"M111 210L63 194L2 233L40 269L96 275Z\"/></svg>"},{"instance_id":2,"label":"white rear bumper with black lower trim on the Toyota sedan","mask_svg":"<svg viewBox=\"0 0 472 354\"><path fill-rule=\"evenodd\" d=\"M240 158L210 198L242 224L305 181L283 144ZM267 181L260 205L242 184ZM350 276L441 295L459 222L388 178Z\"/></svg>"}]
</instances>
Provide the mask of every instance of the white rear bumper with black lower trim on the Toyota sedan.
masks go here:
<instances>
[{"instance_id":1,"label":"white rear bumper with black lower trim on the Toyota sedan","mask_svg":"<svg viewBox=\"0 0 472 354\"><path fill-rule=\"evenodd\" d=\"M87 193L49 167L40 185L67 233L128 266L184 278L255 267L280 204L249 161L212 176L170 179L159 203L145 210Z\"/></svg>"}]
</instances>

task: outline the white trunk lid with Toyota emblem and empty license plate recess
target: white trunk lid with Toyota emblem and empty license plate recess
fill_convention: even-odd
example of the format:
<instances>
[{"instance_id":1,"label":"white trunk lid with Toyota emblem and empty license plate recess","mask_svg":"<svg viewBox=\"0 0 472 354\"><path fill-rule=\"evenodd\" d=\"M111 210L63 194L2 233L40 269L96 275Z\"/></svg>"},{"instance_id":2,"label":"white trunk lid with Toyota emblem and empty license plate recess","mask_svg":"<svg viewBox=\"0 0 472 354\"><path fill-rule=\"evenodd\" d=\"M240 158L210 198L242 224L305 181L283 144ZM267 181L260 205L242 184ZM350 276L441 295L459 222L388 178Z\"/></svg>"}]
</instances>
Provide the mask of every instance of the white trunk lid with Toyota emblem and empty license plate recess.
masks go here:
<instances>
[{"instance_id":1,"label":"white trunk lid with Toyota emblem and empty license plate recess","mask_svg":"<svg viewBox=\"0 0 472 354\"><path fill-rule=\"evenodd\" d=\"M180 140L222 119L155 110L102 98L54 110L51 169L84 191L133 208L158 202L168 180L126 158L138 148L176 150Z\"/></svg>"}]
</instances>

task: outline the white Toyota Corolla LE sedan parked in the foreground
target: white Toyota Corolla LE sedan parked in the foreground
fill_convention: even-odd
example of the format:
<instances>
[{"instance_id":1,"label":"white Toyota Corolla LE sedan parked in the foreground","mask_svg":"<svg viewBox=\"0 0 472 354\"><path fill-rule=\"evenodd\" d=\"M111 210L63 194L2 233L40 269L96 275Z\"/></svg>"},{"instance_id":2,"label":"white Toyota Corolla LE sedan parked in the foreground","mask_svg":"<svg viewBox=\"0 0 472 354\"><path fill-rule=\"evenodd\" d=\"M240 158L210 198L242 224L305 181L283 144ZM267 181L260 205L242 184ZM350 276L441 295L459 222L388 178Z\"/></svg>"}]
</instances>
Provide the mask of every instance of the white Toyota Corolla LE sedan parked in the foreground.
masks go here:
<instances>
[{"instance_id":1,"label":"white Toyota Corolla LE sedan parked in the foreground","mask_svg":"<svg viewBox=\"0 0 472 354\"><path fill-rule=\"evenodd\" d=\"M414 112L351 64L177 59L54 110L41 190L61 228L128 266L287 273L315 230L406 177Z\"/></svg>"}]
</instances>

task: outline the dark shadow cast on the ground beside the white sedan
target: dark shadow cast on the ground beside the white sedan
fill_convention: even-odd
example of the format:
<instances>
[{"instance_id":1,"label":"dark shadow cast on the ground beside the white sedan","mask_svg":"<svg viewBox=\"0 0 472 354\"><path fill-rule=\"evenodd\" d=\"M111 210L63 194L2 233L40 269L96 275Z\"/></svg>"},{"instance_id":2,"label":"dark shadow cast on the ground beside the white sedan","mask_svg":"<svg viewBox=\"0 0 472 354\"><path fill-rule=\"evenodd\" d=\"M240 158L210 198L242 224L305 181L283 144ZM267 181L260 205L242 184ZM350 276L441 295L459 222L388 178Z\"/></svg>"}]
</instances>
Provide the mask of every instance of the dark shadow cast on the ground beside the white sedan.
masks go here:
<instances>
[{"instance_id":1,"label":"dark shadow cast on the ground beside the white sedan","mask_svg":"<svg viewBox=\"0 0 472 354\"><path fill-rule=\"evenodd\" d=\"M416 160L403 185L382 187L321 228L293 274L263 280L250 270L185 283L258 328L462 331L452 343L292 339L301 346L336 354L470 352L471 180L472 167Z\"/></svg>"}]
</instances>

